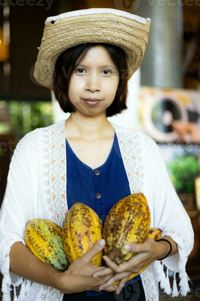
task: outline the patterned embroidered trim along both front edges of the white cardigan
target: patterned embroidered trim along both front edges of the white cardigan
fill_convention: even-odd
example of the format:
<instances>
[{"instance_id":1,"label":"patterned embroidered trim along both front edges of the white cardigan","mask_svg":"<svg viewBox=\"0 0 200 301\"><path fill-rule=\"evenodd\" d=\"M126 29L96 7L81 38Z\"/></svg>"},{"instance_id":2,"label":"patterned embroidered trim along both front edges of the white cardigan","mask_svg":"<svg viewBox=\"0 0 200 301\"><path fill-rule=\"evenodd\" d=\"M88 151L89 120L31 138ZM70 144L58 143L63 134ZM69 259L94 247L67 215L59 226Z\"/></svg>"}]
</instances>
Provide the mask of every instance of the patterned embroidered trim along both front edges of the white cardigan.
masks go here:
<instances>
[{"instance_id":1,"label":"patterned embroidered trim along both front edges of the white cardigan","mask_svg":"<svg viewBox=\"0 0 200 301\"><path fill-rule=\"evenodd\" d=\"M49 210L52 213L52 221L62 227L65 214L67 212L66 203L66 149L65 149L65 120L55 125L43 129L44 131L44 148L46 160L44 168L46 171L46 195ZM141 142L136 133L123 133L116 131L122 160L127 173L131 193L142 192L143 186L143 165L141 157ZM48 139L50 146L48 146ZM50 176L49 176L50 175ZM140 273L143 283L146 301L158 301L155 295L155 282L152 277L151 267L147 267ZM61 291L43 286L45 294L42 293L40 298L43 300L63 299Z\"/></svg>"}]
</instances>

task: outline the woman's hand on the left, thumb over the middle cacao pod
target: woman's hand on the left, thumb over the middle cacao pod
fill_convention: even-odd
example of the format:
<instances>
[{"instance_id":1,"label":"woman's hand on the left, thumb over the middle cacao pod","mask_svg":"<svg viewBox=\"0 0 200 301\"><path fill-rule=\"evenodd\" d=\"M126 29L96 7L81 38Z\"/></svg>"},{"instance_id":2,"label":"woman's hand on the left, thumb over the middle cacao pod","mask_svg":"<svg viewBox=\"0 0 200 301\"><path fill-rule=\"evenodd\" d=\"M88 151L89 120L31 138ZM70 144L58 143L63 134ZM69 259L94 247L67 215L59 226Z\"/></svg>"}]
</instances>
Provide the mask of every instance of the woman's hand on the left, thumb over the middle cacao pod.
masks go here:
<instances>
[{"instance_id":1,"label":"woman's hand on the left, thumb over the middle cacao pod","mask_svg":"<svg viewBox=\"0 0 200 301\"><path fill-rule=\"evenodd\" d=\"M93 257L104 248L105 240L102 240L103 245L100 245L98 243L99 241L100 240L94 244L90 251L74 260L65 272L59 272L57 288L61 292L70 294L81 291L99 291L98 287L113 277L115 272L111 268L106 266L98 267L91 263ZM92 277L94 272L98 272L102 269L105 269L106 275L96 278ZM115 291L117 286L118 285L112 284L104 288L104 291Z\"/></svg>"}]
</instances>

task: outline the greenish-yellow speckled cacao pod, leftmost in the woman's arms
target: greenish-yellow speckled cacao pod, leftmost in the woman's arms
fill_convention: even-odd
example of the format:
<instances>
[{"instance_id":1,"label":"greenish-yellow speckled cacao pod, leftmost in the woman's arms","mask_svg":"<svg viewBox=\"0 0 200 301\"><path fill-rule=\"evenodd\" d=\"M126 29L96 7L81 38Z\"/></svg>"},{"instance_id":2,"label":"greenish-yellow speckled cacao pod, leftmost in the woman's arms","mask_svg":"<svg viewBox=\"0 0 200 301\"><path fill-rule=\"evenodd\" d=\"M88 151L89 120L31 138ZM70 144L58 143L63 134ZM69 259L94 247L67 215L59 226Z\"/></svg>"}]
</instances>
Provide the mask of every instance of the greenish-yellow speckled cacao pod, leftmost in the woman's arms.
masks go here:
<instances>
[{"instance_id":1,"label":"greenish-yellow speckled cacao pod, leftmost in the woman's arms","mask_svg":"<svg viewBox=\"0 0 200 301\"><path fill-rule=\"evenodd\" d=\"M63 272L69 267L62 242L62 230L53 221L34 218L24 231L27 248L40 260Z\"/></svg>"}]
</instances>

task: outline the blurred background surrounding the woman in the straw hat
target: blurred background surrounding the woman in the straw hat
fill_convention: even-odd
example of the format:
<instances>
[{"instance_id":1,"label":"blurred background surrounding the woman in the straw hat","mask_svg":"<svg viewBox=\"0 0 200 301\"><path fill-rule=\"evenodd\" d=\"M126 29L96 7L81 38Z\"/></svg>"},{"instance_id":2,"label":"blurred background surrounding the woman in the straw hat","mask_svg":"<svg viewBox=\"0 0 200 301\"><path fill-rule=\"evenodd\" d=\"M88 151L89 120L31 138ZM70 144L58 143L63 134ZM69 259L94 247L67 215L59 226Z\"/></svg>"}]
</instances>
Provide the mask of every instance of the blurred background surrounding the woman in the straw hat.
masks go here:
<instances>
[{"instance_id":1,"label":"blurred background surrounding the woman in the straw hat","mask_svg":"<svg viewBox=\"0 0 200 301\"><path fill-rule=\"evenodd\" d=\"M128 110L108 119L144 132L159 146L194 229L194 249L186 264L191 292L177 298L195 300L200 297L199 0L0 1L0 205L19 140L69 117L33 77L45 19L103 7L151 18L143 61L128 83ZM176 277L179 283L178 273ZM172 287L172 271L169 278ZM170 298L160 288L159 294Z\"/></svg>"}]
</instances>

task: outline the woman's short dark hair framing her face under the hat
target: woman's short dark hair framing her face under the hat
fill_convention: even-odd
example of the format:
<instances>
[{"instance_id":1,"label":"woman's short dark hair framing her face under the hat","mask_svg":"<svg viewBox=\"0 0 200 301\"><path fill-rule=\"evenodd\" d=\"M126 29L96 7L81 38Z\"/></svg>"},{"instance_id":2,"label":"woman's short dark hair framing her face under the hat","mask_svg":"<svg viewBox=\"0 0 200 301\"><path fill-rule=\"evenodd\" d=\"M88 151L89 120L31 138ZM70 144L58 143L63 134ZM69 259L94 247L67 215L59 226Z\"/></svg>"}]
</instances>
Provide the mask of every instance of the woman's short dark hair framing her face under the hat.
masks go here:
<instances>
[{"instance_id":1,"label":"woman's short dark hair framing her face under the hat","mask_svg":"<svg viewBox=\"0 0 200 301\"><path fill-rule=\"evenodd\" d=\"M106 116L109 117L116 115L128 108L126 106L126 99L128 94L128 68L127 56L124 50L116 45L108 43L84 43L73 46L63 51L57 58L55 64L53 76L53 91L56 100L65 113L76 112L76 108L72 105L68 97L68 89L72 72L75 70L76 66L79 65L83 60L88 50L96 45L102 45L107 49L111 59L113 60L113 63L118 68L120 74L117 92L113 103L106 109ZM77 61L78 58L79 61Z\"/></svg>"}]
</instances>

